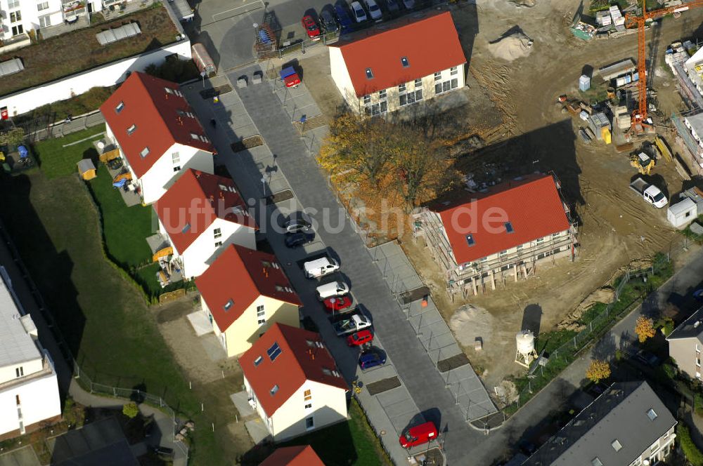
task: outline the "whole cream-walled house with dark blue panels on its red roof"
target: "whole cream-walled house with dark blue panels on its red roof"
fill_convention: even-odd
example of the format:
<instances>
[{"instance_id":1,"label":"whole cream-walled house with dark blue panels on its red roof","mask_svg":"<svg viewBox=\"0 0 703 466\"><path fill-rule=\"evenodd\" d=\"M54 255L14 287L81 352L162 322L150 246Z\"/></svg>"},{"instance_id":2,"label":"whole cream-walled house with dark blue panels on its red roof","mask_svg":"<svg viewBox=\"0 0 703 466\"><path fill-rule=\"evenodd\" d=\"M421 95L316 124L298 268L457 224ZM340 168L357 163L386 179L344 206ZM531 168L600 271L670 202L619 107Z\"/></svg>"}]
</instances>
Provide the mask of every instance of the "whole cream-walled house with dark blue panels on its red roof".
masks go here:
<instances>
[{"instance_id":1,"label":"whole cream-walled house with dark blue panels on its red roof","mask_svg":"<svg viewBox=\"0 0 703 466\"><path fill-rule=\"evenodd\" d=\"M349 386L318 333L274 324L239 364L273 441L347 420Z\"/></svg>"}]
</instances>

